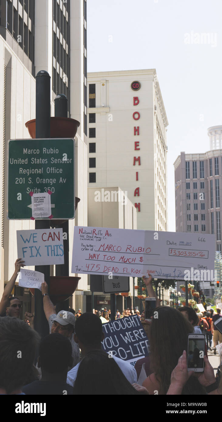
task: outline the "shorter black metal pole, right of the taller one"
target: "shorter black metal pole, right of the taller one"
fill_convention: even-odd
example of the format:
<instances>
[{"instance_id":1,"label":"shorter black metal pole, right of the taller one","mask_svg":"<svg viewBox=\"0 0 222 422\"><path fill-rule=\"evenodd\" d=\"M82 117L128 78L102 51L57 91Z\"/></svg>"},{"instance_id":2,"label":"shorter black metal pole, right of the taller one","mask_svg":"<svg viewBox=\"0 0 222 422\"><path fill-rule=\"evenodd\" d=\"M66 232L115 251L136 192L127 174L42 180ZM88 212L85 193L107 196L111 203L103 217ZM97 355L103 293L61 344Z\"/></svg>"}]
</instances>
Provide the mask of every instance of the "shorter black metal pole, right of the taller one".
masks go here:
<instances>
[{"instance_id":1,"label":"shorter black metal pole, right of the taller one","mask_svg":"<svg viewBox=\"0 0 222 422\"><path fill-rule=\"evenodd\" d=\"M55 117L68 117L68 99L65 95L59 94L55 97ZM66 220L57 228L62 228L62 232L66 233L66 238L63 240L64 245L64 264L55 266L56 276L69 276L69 220ZM57 311L69 310L69 299L57 303Z\"/></svg>"}]
</instances>

